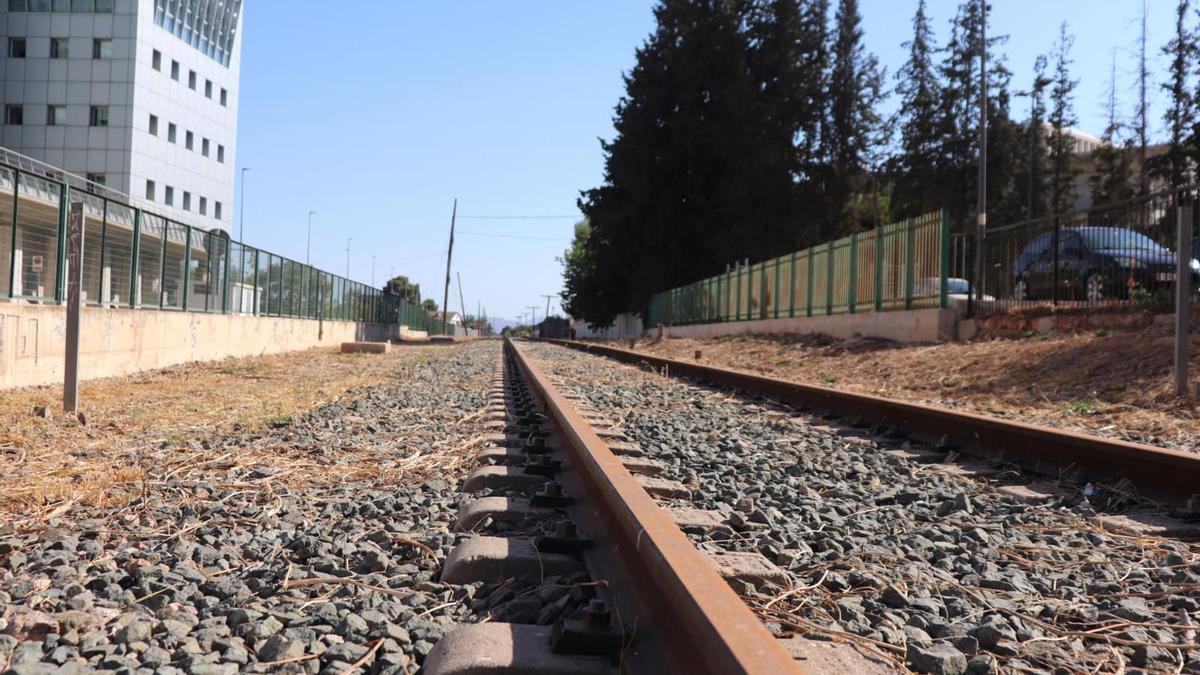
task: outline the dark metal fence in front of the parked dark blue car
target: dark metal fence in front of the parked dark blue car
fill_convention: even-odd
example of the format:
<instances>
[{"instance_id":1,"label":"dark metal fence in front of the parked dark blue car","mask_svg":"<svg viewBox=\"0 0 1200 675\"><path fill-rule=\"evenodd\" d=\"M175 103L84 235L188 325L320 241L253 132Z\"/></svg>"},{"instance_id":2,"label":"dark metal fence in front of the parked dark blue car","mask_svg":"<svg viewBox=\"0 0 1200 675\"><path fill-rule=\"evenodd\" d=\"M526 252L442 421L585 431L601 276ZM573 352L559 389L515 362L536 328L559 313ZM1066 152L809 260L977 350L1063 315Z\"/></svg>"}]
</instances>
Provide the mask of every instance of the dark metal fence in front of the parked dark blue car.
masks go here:
<instances>
[{"instance_id":1,"label":"dark metal fence in front of the parked dark blue car","mask_svg":"<svg viewBox=\"0 0 1200 675\"><path fill-rule=\"evenodd\" d=\"M978 287L971 295L977 315L1038 306L1165 306L1176 283L1177 207L1194 197L1194 187L1171 190L991 227L984 239L982 282L974 283L973 241L954 257L953 269ZM1200 211L1193 214L1195 220ZM1195 283L1200 239L1187 249L1184 255L1193 258L1187 281Z\"/></svg>"}]
</instances>

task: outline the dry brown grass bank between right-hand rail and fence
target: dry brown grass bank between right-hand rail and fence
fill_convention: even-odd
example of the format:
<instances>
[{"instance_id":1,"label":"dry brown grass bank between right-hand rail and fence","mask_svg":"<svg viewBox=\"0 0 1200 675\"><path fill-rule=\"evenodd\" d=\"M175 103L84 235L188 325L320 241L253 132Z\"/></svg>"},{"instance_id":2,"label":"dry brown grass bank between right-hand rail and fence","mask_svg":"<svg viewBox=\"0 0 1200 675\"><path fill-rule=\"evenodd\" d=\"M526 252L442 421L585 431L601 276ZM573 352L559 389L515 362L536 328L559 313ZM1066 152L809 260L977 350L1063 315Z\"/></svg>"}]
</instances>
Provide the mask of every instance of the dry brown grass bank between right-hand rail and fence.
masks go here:
<instances>
[{"instance_id":1,"label":"dry brown grass bank between right-hand rail and fence","mask_svg":"<svg viewBox=\"0 0 1200 675\"><path fill-rule=\"evenodd\" d=\"M852 392L1200 452L1200 406L1170 390L1159 328L896 345L814 336L642 340L638 351ZM1200 336L1192 342L1200 372Z\"/></svg>"}]
</instances>

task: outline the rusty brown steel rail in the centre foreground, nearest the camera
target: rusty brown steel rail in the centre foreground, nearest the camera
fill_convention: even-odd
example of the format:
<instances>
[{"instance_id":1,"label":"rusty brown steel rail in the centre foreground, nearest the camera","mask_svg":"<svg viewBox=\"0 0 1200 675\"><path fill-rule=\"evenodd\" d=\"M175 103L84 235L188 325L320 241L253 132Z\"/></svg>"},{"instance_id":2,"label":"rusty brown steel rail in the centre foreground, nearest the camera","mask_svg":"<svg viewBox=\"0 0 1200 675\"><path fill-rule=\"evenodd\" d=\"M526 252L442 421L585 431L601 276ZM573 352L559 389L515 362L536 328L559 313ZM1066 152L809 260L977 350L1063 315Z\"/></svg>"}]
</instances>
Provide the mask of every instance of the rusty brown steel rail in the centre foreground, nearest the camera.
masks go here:
<instances>
[{"instance_id":1,"label":"rusty brown steel rail in the centre foreground, nearest the camera","mask_svg":"<svg viewBox=\"0 0 1200 675\"><path fill-rule=\"evenodd\" d=\"M665 658L650 661L668 663L674 673L800 673L787 650L522 348L508 339L505 348L563 440L569 473L587 492L580 500L583 509L604 528L589 533L595 544L584 557L594 578L593 562L602 575L611 575L604 580L614 591L631 646L665 652Z\"/></svg>"}]
</instances>

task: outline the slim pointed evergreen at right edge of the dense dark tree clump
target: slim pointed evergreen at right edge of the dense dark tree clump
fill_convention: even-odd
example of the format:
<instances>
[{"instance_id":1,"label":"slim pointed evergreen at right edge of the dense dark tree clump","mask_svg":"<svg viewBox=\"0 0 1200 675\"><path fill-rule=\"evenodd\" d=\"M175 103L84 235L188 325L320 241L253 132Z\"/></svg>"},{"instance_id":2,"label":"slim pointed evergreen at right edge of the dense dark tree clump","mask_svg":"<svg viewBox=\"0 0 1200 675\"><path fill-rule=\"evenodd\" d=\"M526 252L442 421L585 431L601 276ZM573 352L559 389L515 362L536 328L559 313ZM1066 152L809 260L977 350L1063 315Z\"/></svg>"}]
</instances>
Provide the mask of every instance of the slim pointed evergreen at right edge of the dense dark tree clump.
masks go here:
<instances>
[{"instance_id":1,"label":"slim pointed evergreen at right edge of the dense dark tree clump","mask_svg":"<svg viewBox=\"0 0 1200 675\"><path fill-rule=\"evenodd\" d=\"M851 201L866 189L868 154L882 129L877 107L883 98L883 73L878 59L863 47L858 0L838 4L829 97L829 197L838 208L824 234L834 237L858 227L850 217Z\"/></svg>"}]
</instances>

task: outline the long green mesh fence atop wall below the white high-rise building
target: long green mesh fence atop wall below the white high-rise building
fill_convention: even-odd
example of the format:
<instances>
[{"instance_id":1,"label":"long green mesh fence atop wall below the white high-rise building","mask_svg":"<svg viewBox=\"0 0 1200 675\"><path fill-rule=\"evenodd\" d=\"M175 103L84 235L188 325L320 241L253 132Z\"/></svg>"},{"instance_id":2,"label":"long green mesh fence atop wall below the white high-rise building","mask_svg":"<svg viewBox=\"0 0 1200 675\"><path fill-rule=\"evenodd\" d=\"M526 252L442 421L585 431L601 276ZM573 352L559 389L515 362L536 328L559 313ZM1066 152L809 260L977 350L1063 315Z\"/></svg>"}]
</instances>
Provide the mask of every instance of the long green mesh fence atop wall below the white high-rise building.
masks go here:
<instances>
[{"instance_id":1,"label":"long green mesh fence atop wall below the white high-rise building","mask_svg":"<svg viewBox=\"0 0 1200 675\"><path fill-rule=\"evenodd\" d=\"M77 202L88 305L440 329L398 295L7 163L0 163L0 298L66 299L66 220Z\"/></svg>"}]
</instances>

